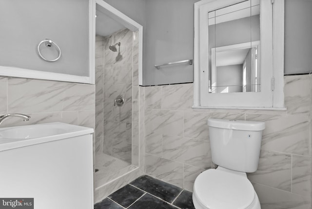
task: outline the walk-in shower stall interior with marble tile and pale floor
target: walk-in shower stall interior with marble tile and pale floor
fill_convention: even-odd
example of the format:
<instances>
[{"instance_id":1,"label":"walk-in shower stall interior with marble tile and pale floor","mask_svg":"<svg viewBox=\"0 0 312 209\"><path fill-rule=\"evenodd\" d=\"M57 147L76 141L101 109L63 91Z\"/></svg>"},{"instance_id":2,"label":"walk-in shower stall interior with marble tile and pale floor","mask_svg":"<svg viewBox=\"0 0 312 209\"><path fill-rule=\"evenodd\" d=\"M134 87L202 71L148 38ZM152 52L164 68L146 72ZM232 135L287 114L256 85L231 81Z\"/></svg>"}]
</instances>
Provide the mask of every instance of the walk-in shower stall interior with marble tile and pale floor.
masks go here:
<instances>
[{"instance_id":1,"label":"walk-in shower stall interior with marble tile and pale floor","mask_svg":"<svg viewBox=\"0 0 312 209\"><path fill-rule=\"evenodd\" d=\"M138 167L138 44L96 4L96 189Z\"/></svg>"}]
</instances>

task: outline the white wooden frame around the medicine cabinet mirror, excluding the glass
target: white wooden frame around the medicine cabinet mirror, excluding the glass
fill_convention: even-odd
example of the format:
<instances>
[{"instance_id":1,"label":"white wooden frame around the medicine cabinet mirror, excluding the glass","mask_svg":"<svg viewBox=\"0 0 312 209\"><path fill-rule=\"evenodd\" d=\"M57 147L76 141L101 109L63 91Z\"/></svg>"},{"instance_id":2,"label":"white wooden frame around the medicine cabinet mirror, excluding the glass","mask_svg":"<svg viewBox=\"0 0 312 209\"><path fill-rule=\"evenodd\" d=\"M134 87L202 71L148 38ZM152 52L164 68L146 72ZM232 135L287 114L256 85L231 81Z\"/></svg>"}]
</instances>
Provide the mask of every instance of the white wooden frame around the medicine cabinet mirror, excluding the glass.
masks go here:
<instances>
[{"instance_id":1,"label":"white wooden frame around the medicine cabinet mirror, excluding the glass","mask_svg":"<svg viewBox=\"0 0 312 209\"><path fill-rule=\"evenodd\" d=\"M260 92L209 92L208 12L243 1L201 0L195 3L193 108L285 110L284 0L260 0Z\"/></svg>"}]
</instances>

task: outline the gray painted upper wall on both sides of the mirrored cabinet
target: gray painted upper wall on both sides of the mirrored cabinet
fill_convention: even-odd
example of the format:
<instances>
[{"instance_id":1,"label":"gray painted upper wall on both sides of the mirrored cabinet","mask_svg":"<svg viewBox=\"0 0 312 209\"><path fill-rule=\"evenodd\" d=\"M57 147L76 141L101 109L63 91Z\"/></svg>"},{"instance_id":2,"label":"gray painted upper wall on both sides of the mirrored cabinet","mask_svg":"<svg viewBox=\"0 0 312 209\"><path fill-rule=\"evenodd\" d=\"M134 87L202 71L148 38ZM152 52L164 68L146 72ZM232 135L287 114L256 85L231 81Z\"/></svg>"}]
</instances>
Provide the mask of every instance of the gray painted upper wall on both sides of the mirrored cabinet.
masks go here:
<instances>
[{"instance_id":1,"label":"gray painted upper wall on both sides of the mirrored cabinet","mask_svg":"<svg viewBox=\"0 0 312 209\"><path fill-rule=\"evenodd\" d=\"M193 82L193 65L156 70L156 63L194 57L194 3L146 0L143 84ZM285 0L285 74L312 71L312 0Z\"/></svg>"}]
</instances>

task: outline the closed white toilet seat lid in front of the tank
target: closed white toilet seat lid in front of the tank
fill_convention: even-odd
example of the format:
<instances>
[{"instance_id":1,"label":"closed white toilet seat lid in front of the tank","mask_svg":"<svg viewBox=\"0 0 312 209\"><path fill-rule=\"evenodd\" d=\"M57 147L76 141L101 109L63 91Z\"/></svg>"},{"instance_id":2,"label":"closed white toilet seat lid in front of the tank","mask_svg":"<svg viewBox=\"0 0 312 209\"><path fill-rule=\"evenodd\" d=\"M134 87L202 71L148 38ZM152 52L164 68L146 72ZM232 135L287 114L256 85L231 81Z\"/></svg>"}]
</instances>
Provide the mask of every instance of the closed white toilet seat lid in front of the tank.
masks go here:
<instances>
[{"instance_id":1,"label":"closed white toilet seat lid in front of the tank","mask_svg":"<svg viewBox=\"0 0 312 209\"><path fill-rule=\"evenodd\" d=\"M247 177L218 169L197 176L193 195L205 209L250 209L258 199Z\"/></svg>"}]
</instances>

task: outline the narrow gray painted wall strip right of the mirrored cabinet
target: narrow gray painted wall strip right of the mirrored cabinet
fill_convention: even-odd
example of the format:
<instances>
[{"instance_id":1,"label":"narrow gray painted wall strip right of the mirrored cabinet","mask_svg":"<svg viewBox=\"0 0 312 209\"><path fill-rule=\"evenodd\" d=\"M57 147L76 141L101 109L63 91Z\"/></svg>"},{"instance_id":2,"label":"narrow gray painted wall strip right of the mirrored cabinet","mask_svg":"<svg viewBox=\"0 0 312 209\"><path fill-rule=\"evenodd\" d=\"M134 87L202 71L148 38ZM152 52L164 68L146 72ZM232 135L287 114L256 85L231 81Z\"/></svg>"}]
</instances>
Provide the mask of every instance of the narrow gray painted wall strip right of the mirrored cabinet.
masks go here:
<instances>
[{"instance_id":1,"label":"narrow gray painted wall strip right of the mirrored cabinet","mask_svg":"<svg viewBox=\"0 0 312 209\"><path fill-rule=\"evenodd\" d=\"M285 0L285 74L312 72L312 0Z\"/></svg>"}]
</instances>

